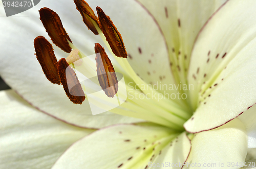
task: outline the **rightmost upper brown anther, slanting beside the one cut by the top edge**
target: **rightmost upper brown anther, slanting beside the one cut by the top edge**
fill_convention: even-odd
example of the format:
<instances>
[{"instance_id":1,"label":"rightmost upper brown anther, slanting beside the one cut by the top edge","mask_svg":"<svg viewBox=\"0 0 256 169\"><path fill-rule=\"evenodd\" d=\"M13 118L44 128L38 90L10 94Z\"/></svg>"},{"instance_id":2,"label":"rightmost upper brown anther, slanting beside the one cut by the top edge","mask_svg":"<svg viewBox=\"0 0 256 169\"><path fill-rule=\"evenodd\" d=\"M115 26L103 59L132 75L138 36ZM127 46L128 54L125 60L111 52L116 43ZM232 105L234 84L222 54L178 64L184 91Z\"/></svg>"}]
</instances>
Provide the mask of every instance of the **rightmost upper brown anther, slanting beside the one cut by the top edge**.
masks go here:
<instances>
[{"instance_id":1,"label":"rightmost upper brown anther, slanting beside the one cut by the top edge","mask_svg":"<svg viewBox=\"0 0 256 169\"><path fill-rule=\"evenodd\" d=\"M109 16L106 16L100 7L96 8L100 29L109 42L112 52L120 58L127 58L127 53L123 44L123 39L121 34L117 31L114 23Z\"/></svg>"}]
</instances>

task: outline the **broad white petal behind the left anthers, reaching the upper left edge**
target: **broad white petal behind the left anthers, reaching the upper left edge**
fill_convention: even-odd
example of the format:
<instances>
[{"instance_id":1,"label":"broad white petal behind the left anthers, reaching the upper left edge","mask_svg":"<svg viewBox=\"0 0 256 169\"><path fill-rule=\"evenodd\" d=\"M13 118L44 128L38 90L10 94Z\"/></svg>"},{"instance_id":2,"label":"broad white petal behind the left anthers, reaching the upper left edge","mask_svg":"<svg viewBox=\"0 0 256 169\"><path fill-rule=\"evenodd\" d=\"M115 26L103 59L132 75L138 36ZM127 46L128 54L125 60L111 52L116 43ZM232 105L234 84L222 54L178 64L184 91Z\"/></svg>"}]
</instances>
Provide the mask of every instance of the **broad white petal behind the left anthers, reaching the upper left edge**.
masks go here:
<instances>
[{"instance_id":1,"label":"broad white petal behind the left anthers, reaching the upper left edge","mask_svg":"<svg viewBox=\"0 0 256 169\"><path fill-rule=\"evenodd\" d=\"M89 128L100 128L117 123L141 122L141 119L116 115L110 112L92 116L87 102L74 105L65 94L62 86L49 82L34 55L34 38L47 33L39 20L38 10L48 7L58 13L62 25L73 43L86 55L95 54L94 43L101 42L84 25L73 1L43 1L23 13L1 17L0 25L0 74L3 79L30 104L67 123ZM54 44L58 59L68 54Z\"/></svg>"}]
</instances>

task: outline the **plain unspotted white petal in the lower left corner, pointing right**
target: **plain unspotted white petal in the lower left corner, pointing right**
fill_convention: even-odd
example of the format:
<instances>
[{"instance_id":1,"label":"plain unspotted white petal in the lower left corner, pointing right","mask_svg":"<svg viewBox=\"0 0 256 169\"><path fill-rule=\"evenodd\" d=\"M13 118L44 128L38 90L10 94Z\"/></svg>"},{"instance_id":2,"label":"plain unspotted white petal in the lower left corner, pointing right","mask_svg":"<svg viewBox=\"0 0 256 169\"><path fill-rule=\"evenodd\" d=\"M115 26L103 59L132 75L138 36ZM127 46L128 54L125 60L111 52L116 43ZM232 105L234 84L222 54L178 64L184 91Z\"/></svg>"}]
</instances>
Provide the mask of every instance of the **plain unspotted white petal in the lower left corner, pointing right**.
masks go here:
<instances>
[{"instance_id":1,"label":"plain unspotted white petal in the lower left corner, pointing right","mask_svg":"<svg viewBox=\"0 0 256 169\"><path fill-rule=\"evenodd\" d=\"M0 168L51 168L75 141L94 130L50 117L13 90L0 92Z\"/></svg>"}]
</instances>

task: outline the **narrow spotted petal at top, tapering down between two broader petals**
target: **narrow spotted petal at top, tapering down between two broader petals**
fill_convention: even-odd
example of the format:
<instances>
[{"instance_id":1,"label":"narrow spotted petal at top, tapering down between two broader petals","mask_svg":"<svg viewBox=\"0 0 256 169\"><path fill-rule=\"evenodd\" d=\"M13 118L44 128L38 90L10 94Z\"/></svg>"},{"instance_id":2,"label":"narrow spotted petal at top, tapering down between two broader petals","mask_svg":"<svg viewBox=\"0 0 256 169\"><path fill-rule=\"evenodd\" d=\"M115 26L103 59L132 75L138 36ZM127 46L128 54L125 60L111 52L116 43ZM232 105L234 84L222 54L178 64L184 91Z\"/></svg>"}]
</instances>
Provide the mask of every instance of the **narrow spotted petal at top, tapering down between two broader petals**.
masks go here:
<instances>
[{"instance_id":1,"label":"narrow spotted petal at top, tapering down between two broader petals","mask_svg":"<svg viewBox=\"0 0 256 169\"><path fill-rule=\"evenodd\" d=\"M169 60L173 65L176 81L185 84L196 36L207 19L225 0L138 1L147 8L159 24L168 45Z\"/></svg>"}]
</instances>

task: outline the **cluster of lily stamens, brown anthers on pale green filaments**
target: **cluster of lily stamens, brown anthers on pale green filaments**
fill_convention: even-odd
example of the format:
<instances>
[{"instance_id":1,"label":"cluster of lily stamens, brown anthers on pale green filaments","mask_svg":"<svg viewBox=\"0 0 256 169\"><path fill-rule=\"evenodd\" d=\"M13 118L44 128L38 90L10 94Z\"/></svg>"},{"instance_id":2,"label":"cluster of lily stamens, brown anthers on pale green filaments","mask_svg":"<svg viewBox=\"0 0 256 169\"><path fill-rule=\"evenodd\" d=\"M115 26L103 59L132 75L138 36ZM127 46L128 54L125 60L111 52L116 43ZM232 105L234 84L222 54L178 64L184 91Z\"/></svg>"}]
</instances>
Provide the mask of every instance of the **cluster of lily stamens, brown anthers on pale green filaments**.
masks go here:
<instances>
[{"instance_id":1,"label":"cluster of lily stamens, brown anthers on pale green filaments","mask_svg":"<svg viewBox=\"0 0 256 169\"><path fill-rule=\"evenodd\" d=\"M180 76L180 73L175 73L176 81L180 80L180 84L161 84L159 82L157 88L152 84L147 84L135 73L127 61L127 52L122 36L110 17L105 15L99 7L96 8L98 14L98 17L96 17L93 10L83 0L77 0L75 4L83 17L84 23L95 35L99 34L101 36L118 65L116 62L111 62L99 43L95 43L96 56L93 55L93 58L85 56L72 43L62 26L59 16L48 8L42 8L39 11L40 19L48 35L60 49L70 53L67 61L62 58L56 64L57 60L52 47L51 49L49 47L50 43L48 41L49 44L44 42L43 45L35 43L36 55L37 58L42 58L38 61L46 77L52 83L60 84L61 82L73 103L82 104L86 100L90 103L90 106L97 107L95 108L97 112L93 114L110 111L184 131L183 124L192 115L187 99L189 95L187 89L184 89L184 87L189 87L184 79L185 73L182 76ZM46 52L40 53L40 51ZM178 52L178 60L180 53ZM45 63L47 60L51 61ZM186 68L182 64L178 64L180 63L178 60L170 62L170 64L175 65L178 71L181 72ZM86 79L83 79L84 77ZM97 77L97 80L95 77ZM165 93L170 85L177 92L175 99L172 98L174 92ZM159 90L163 90L164 93ZM180 99L182 101L179 101ZM92 107L91 109L94 111Z\"/></svg>"}]
</instances>

